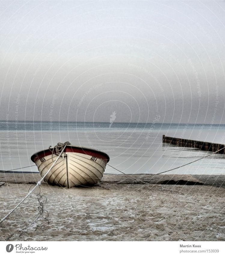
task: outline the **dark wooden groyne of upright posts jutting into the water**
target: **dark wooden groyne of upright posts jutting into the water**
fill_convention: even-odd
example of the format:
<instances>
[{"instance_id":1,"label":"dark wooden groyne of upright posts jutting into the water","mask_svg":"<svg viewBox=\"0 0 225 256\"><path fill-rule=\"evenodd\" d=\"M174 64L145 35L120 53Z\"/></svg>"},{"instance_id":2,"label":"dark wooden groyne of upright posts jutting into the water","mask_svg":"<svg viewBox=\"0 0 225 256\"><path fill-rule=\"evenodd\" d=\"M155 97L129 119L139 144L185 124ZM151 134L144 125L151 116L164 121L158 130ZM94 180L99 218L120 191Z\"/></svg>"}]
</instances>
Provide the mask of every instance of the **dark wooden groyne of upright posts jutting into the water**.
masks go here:
<instances>
[{"instance_id":1,"label":"dark wooden groyne of upright posts jutting into the water","mask_svg":"<svg viewBox=\"0 0 225 256\"><path fill-rule=\"evenodd\" d=\"M163 135L163 142L176 145L178 147L192 147L200 150L215 152L225 147L224 144L217 144L205 141L193 141L181 138L167 137ZM217 154L225 154L225 149L220 150Z\"/></svg>"}]
</instances>

